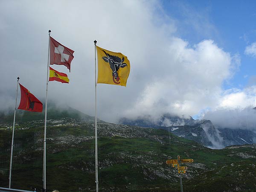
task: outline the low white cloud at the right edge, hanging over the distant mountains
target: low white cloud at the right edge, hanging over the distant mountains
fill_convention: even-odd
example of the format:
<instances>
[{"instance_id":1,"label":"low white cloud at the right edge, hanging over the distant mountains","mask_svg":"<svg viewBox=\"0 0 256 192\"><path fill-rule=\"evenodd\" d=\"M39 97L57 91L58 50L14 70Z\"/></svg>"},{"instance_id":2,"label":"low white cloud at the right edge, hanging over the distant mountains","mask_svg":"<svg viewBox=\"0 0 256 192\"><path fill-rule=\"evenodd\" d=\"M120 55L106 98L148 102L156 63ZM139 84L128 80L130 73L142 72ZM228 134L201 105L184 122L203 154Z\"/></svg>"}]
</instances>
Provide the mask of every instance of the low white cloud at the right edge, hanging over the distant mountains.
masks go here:
<instances>
[{"instance_id":1,"label":"low white cloud at the right edge, hanging over the distant mountains","mask_svg":"<svg viewBox=\"0 0 256 192\"><path fill-rule=\"evenodd\" d=\"M256 86L244 90L227 90L220 104L205 111L203 118L210 119L222 128L241 128L256 130Z\"/></svg>"}]
</instances>

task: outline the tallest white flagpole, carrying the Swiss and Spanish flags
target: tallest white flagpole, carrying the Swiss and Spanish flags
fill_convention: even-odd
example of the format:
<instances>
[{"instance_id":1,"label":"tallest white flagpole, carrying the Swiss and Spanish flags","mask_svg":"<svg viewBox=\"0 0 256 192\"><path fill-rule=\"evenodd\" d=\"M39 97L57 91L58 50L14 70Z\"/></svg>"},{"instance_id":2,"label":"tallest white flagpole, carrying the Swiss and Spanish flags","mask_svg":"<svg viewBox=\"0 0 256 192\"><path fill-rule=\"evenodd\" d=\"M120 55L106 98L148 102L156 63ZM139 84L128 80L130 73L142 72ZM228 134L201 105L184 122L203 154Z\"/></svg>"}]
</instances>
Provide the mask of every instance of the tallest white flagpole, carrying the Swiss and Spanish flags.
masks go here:
<instances>
[{"instance_id":1,"label":"tallest white flagpole, carrying the Swiss and Spanish flags","mask_svg":"<svg viewBox=\"0 0 256 192\"><path fill-rule=\"evenodd\" d=\"M48 91L48 80L49 80L49 52L50 52L50 34L49 32L49 45L48 45L48 63L47 63L47 81L46 81L46 97L45 97L45 113L44 113L44 166L43 166L43 175L44 175L44 189L46 190L46 122L47 122L47 91Z\"/></svg>"}]
</instances>

